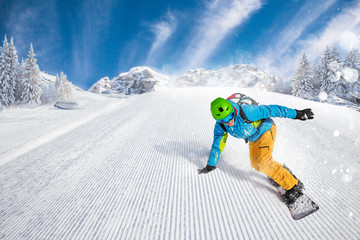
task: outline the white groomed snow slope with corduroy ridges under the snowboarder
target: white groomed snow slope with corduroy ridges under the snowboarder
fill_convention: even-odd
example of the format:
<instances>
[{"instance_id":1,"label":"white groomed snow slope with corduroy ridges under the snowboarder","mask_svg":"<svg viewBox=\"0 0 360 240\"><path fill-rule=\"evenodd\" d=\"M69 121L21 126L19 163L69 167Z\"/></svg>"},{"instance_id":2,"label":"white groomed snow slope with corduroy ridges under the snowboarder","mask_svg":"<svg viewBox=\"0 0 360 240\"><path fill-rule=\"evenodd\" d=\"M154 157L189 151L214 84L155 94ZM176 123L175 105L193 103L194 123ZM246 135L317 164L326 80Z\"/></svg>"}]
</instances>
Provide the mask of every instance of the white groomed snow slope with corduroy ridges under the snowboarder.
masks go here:
<instances>
[{"instance_id":1,"label":"white groomed snow slope with corduroy ridges under the snowboarder","mask_svg":"<svg viewBox=\"0 0 360 240\"><path fill-rule=\"evenodd\" d=\"M318 212L294 221L233 137L217 169L197 174L212 144L209 104L233 92L313 108L312 121L275 119L274 158ZM359 112L239 88L82 95L78 110L0 113L0 239L360 238Z\"/></svg>"}]
</instances>

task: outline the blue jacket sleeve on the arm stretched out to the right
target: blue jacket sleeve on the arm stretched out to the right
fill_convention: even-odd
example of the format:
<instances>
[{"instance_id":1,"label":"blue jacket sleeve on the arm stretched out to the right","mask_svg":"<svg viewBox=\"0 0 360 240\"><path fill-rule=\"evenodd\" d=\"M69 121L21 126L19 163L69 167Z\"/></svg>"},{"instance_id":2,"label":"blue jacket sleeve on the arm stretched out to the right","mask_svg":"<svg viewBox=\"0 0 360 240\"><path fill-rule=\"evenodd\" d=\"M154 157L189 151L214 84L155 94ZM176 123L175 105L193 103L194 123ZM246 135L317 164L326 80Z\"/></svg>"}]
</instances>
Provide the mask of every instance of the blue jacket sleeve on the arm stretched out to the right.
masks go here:
<instances>
[{"instance_id":1,"label":"blue jacket sleeve on the arm stretched out to the right","mask_svg":"<svg viewBox=\"0 0 360 240\"><path fill-rule=\"evenodd\" d=\"M270 117L295 118L296 110L279 105L244 105L241 107L250 121Z\"/></svg>"}]
</instances>

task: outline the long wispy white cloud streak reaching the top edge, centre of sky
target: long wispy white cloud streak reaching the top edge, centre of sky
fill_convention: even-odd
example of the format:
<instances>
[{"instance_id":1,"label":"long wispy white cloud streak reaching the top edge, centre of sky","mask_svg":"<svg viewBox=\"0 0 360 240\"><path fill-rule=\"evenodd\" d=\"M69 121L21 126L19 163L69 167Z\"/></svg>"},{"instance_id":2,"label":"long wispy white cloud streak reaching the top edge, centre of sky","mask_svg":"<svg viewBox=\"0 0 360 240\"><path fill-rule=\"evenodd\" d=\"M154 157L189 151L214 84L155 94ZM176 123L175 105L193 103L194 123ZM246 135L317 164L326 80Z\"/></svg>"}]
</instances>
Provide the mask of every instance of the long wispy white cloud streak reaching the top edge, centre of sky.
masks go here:
<instances>
[{"instance_id":1,"label":"long wispy white cloud streak reaching the top edge, centre of sky","mask_svg":"<svg viewBox=\"0 0 360 240\"><path fill-rule=\"evenodd\" d=\"M185 49L184 69L202 66L231 30L261 7L259 0L213 0L194 27L194 37Z\"/></svg>"}]
</instances>

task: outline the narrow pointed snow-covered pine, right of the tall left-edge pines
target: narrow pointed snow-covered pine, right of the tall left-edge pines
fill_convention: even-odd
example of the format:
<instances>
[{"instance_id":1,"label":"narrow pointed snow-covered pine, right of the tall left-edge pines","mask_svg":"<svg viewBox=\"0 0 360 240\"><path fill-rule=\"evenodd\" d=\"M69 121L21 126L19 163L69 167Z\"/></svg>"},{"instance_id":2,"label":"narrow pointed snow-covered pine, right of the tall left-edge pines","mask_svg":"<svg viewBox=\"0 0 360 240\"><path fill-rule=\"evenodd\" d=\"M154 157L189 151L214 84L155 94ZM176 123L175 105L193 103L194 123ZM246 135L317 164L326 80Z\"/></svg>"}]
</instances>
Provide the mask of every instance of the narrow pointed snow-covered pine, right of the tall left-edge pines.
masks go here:
<instances>
[{"instance_id":1,"label":"narrow pointed snow-covered pine, right of the tall left-edge pines","mask_svg":"<svg viewBox=\"0 0 360 240\"><path fill-rule=\"evenodd\" d=\"M20 97L21 104L38 105L41 103L41 88L39 87L39 66L36 63L33 45L30 45L28 58L22 69L23 91Z\"/></svg>"}]
</instances>

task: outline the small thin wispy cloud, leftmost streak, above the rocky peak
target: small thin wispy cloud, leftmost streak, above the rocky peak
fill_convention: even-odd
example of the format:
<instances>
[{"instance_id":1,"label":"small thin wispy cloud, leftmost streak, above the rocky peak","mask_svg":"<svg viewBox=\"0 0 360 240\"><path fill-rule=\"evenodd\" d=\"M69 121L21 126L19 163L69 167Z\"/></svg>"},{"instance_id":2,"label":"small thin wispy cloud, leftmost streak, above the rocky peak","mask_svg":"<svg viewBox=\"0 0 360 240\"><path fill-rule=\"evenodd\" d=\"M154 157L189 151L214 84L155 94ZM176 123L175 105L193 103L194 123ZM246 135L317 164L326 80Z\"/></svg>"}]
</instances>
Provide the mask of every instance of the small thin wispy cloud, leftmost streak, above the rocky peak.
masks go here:
<instances>
[{"instance_id":1,"label":"small thin wispy cloud, leftmost streak, above the rocky peak","mask_svg":"<svg viewBox=\"0 0 360 240\"><path fill-rule=\"evenodd\" d=\"M152 61L156 57L157 51L161 50L164 44L175 32L176 28L177 20L170 11L167 12L163 20L158 21L150 26L150 30L154 34L155 38L146 61L147 65L152 63Z\"/></svg>"}]
</instances>

